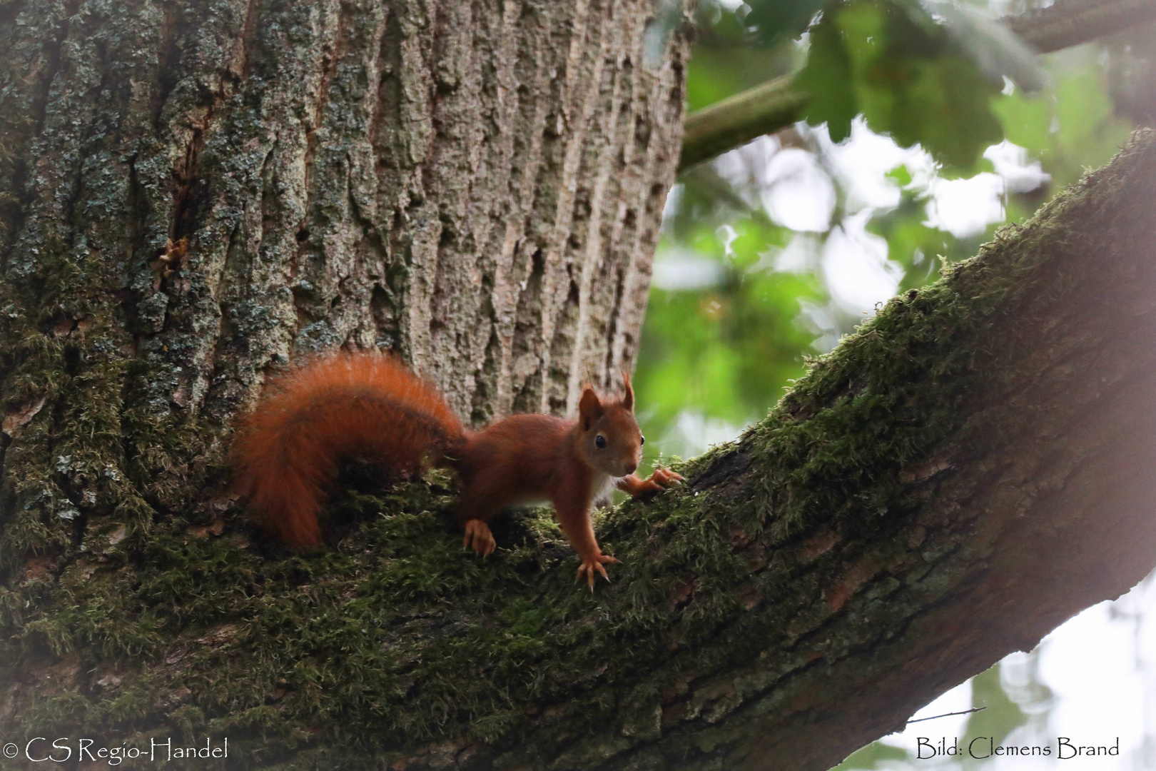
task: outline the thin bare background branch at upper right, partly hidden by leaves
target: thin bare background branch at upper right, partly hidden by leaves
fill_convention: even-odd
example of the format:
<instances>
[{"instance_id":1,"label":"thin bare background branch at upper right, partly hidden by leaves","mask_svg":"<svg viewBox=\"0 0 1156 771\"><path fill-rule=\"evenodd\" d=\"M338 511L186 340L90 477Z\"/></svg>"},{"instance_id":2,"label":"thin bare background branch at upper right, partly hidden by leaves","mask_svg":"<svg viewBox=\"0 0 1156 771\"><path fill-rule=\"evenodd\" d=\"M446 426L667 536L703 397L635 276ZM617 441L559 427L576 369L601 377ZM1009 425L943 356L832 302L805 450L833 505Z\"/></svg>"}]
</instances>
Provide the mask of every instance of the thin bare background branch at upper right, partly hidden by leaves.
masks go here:
<instances>
[{"instance_id":1,"label":"thin bare background branch at upper right, partly hidden by leaves","mask_svg":"<svg viewBox=\"0 0 1156 771\"><path fill-rule=\"evenodd\" d=\"M1058 0L1001 20L1040 53L1156 21L1156 0ZM687 116L679 171L801 120L807 95L791 76L762 83Z\"/></svg>"}]
</instances>

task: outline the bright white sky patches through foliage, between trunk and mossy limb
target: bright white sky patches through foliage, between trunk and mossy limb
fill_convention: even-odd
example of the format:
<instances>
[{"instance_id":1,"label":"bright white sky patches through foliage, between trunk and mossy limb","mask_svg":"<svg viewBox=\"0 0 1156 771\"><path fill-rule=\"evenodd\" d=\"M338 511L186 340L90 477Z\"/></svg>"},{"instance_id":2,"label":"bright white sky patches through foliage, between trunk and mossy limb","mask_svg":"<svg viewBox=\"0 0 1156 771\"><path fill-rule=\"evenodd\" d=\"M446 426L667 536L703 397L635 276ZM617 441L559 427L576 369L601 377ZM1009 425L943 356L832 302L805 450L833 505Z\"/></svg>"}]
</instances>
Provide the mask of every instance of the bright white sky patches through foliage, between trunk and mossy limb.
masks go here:
<instances>
[{"instance_id":1,"label":"bright white sky patches through foliage, between trunk and mossy limb","mask_svg":"<svg viewBox=\"0 0 1156 771\"><path fill-rule=\"evenodd\" d=\"M852 124L850 139L839 144L831 142L825 129L801 126L800 131L809 132L822 149L822 158L798 148L780 149L776 139L764 136L719 158L717 169L726 179L753 178L768 215L800 233L777 255L775 267L780 270L814 267L816 244L806 235L830 228L837 203L831 179L839 181L847 214L817 257L835 303L851 314L874 312L879 303L896 294L903 279L902 267L888 259L887 242L867 232L874 214L899 202L899 185L888 176L890 171L906 166L911 176L907 187L926 195L925 224L961 238L1002 222L1007 192L1027 192L1047 181L1039 162L1029 161L1023 148L1007 141L984 154L994 173L943 179L921 148L901 148L890 138L873 133L861 119ZM676 188L672 202L679 194ZM654 286L692 289L711 286L721 274L711 260L695 253L666 252L654 265ZM824 342L833 344L835 339Z\"/></svg>"}]
</instances>

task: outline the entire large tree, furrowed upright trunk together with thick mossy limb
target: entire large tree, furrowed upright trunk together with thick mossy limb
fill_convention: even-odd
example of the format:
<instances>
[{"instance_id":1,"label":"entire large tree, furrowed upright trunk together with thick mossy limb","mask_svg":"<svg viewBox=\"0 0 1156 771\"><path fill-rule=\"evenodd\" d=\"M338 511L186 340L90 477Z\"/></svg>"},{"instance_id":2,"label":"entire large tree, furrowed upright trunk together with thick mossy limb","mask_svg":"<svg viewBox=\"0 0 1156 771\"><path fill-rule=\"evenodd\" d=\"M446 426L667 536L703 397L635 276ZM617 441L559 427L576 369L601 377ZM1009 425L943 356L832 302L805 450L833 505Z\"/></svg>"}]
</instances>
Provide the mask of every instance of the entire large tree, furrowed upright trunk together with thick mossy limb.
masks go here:
<instances>
[{"instance_id":1,"label":"entire large tree, furrowed upright trunk together with thick mossy limb","mask_svg":"<svg viewBox=\"0 0 1156 771\"><path fill-rule=\"evenodd\" d=\"M225 425L297 350L400 346L475 417L628 364L680 30L647 71L629 2L0 14L6 736L828 768L1156 562L1150 133L606 514L590 593L543 512L461 553L436 473L347 480L331 548L280 550Z\"/></svg>"}]
</instances>

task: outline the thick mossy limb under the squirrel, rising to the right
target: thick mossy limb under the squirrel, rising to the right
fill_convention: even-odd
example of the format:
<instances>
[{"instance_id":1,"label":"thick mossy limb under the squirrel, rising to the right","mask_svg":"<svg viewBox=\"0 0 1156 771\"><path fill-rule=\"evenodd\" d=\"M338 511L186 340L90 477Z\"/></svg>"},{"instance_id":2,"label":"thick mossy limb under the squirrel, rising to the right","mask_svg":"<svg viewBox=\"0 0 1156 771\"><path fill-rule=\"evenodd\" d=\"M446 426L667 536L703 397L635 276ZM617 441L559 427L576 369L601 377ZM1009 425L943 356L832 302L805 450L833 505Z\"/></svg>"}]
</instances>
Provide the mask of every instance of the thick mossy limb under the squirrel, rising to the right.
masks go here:
<instances>
[{"instance_id":1,"label":"thick mossy limb under the squirrel, rising to the right","mask_svg":"<svg viewBox=\"0 0 1156 771\"><path fill-rule=\"evenodd\" d=\"M548 516L459 551L440 475L343 494L311 557L232 517L86 536L2 595L0 732L229 736L237 769L825 769L1156 564L1154 200L1148 132L612 512L594 593Z\"/></svg>"}]
</instances>

